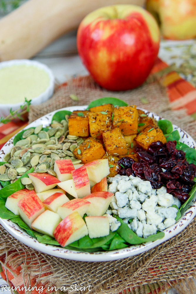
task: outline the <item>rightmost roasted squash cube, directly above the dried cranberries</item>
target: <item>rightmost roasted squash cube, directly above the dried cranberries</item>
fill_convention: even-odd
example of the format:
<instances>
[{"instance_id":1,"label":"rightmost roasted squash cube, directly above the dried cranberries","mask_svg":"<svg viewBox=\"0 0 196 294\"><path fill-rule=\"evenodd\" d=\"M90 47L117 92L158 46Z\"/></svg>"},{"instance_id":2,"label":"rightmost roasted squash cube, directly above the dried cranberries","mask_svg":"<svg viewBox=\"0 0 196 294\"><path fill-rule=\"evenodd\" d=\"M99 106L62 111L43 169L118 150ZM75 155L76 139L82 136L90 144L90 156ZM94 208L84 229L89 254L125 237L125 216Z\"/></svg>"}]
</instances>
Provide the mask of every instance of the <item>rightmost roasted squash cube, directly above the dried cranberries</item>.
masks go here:
<instances>
[{"instance_id":1,"label":"rightmost roasted squash cube, directly above the dried cranberries","mask_svg":"<svg viewBox=\"0 0 196 294\"><path fill-rule=\"evenodd\" d=\"M163 144L166 143L165 136L163 135L161 129L151 125L145 127L143 131L135 137L134 140L144 149L147 149L151 143L156 141L161 141Z\"/></svg>"}]
</instances>

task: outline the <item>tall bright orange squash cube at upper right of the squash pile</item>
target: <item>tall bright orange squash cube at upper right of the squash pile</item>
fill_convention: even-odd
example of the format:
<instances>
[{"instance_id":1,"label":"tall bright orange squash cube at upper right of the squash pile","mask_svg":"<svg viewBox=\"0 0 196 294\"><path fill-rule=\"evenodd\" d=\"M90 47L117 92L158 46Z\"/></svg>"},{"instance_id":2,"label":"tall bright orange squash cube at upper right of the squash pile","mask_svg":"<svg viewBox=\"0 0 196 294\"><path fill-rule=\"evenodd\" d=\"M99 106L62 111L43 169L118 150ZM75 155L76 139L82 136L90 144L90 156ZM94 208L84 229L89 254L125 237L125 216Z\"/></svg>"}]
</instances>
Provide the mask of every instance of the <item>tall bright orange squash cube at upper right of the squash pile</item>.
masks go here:
<instances>
[{"instance_id":1,"label":"tall bright orange squash cube at upper right of the squash pile","mask_svg":"<svg viewBox=\"0 0 196 294\"><path fill-rule=\"evenodd\" d=\"M114 108L113 127L120 128L123 135L138 132L138 110L135 105Z\"/></svg>"}]
</instances>

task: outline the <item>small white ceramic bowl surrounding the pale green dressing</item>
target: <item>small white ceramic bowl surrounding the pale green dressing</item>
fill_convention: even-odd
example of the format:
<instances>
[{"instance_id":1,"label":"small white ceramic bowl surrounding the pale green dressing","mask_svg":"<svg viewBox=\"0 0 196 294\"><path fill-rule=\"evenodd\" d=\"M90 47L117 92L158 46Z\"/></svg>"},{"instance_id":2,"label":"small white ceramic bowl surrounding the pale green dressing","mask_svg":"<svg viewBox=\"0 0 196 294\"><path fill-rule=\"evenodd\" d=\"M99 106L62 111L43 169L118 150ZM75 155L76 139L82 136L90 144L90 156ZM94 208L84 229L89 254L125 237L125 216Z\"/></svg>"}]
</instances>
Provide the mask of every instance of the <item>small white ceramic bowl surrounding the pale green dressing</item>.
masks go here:
<instances>
[{"instance_id":1,"label":"small white ceramic bowl surrounding the pale green dressing","mask_svg":"<svg viewBox=\"0 0 196 294\"><path fill-rule=\"evenodd\" d=\"M35 105L35 104L41 104L44 101L48 100L54 92L54 75L53 72L51 71L51 69L48 68L48 66L46 66L45 64L42 64L41 62L38 61L33 61L33 60L29 60L29 59L14 59L14 60L10 60L10 61L3 61L0 63L0 70L4 67L10 67L10 66L14 66L14 65L27 65L27 66L33 66L33 67L37 67L38 69L42 69L44 70L49 77L49 85L46 88L45 91L43 91L42 93L40 93L38 96L32 98L31 100L31 104ZM5 97L6 99L6 97ZM28 99L28 97L27 97ZM29 99L28 99L29 100ZM12 110L16 110L18 109L24 102L18 102L16 101L16 103L13 104L2 104L0 101L0 117L6 117L9 115L10 112L10 108Z\"/></svg>"}]
</instances>

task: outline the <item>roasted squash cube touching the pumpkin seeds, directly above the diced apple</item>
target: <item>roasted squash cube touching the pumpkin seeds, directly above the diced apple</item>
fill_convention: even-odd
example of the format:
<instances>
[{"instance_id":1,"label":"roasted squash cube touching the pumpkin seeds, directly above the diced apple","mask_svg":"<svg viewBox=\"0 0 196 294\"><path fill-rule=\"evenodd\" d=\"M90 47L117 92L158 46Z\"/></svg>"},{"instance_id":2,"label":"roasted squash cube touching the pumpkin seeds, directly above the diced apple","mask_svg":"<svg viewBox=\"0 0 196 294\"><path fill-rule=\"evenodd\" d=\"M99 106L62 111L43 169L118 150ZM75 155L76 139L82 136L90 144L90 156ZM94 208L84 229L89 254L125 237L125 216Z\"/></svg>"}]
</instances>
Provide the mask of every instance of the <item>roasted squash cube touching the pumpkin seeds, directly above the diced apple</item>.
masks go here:
<instances>
[{"instance_id":1,"label":"roasted squash cube touching the pumpkin seeds, directly above the diced apple","mask_svg":"<svg viewBox=\"0 0 196 294\"><path fill-rule=\"evenodd\" d=\"M93 138L86 139L83 143L73 150L73 155L81 159L82 163L88 163L104 156L105 150L103 146Z\"/></svg>"}]
</instances>

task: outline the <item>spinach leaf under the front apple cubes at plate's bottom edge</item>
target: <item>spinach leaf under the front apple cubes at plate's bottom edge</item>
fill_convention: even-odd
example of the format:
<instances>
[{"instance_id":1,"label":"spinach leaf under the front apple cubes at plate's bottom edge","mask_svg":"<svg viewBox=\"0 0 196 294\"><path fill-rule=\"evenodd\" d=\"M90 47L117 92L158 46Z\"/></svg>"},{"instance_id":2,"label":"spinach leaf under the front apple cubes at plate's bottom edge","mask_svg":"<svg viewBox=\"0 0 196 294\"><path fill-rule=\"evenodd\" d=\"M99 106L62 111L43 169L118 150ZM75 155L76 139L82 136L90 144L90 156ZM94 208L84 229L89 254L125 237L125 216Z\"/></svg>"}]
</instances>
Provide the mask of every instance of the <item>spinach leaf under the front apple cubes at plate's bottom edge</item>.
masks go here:
<instances>
[{"instance_id":1,"label":"spinach leaf under the front apple cubes at plate's bottom edge","mask_svg":"<svg viewBox=\"0 0 196 294\"><path fill-rule=\"evenodd\" d=\"M110 231L109 235L105 237L99 238L90 238L88 235L84 236L83 238L69 244L69 246L77 248L77 249L92 249L96 247L101 247L109 240L111 240L115 235L115 232ZM65 247L67 248L67 247Z\"/></svg>"}]
</instances>

